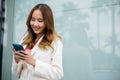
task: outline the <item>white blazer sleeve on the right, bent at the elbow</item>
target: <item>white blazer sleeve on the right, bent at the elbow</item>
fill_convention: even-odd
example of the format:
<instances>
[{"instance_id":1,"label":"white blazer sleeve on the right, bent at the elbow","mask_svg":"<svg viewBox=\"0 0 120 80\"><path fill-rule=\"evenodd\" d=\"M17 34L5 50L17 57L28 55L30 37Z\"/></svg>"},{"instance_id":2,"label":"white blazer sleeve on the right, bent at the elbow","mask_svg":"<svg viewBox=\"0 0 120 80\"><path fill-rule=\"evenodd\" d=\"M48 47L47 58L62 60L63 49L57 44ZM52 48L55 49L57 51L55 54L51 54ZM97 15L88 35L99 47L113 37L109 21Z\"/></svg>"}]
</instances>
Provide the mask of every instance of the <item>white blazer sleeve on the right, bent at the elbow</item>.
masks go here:
<instances>
[{"instance_id":1,"label":"white blazer sleeve on the right, bent at the elbow","mask_svg":"<svg viewBox=\"0 0 120 80\"><path fill-rule=\"evenodd\" d=\"M54 52L52 53L51 64L36 60L34 73L48 80L60 80L63 76L62 68L62 50L63 44L61 40L53 43Z\"/></svg>"}]
</instances>

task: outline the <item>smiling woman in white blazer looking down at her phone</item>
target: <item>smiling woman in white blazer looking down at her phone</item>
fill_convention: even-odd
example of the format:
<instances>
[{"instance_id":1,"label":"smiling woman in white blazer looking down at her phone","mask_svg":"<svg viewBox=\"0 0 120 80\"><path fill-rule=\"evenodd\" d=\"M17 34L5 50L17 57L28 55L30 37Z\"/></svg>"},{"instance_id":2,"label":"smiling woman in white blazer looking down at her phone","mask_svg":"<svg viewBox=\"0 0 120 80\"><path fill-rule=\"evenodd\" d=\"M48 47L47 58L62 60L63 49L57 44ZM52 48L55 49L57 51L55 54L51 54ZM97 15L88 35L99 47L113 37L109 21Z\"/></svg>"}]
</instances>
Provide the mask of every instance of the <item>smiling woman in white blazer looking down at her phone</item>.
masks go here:
<instances>
[{"instance_id":1,"label":"smiling woman in white blazer looking down at her phone","mask_svg":"<svg viewBox=\"0 0 120 80\"><path fill-rule=\"evenodd\" d=\"M50 7L46 4L33 7L26 25L28 33L21 41L25 51L13 49L12 72L20 80L61 79L63 45L55 31Z\"/></svg>"}]
</instances>

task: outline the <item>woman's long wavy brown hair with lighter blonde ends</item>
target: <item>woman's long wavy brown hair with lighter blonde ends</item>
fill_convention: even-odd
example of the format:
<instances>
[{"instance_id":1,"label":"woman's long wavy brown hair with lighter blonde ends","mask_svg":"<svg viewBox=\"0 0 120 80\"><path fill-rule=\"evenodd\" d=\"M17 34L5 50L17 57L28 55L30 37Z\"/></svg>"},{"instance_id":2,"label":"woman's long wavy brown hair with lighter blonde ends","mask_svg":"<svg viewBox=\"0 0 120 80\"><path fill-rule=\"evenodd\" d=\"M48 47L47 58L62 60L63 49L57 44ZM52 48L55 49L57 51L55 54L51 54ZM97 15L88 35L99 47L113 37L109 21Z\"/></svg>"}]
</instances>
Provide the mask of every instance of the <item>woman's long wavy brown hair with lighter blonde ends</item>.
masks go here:
<instances>
[{"instance_id":1,"label":"woman's long wavy brown hair with lighter blonde ends","mask_svg":"<svg viewBox=\"0 0 120 80\"><path fill-rule=\"evenodd\" d=\"M55 40L56 37L60 39L61 37L55 31L53 13L52 13L51 8L47 4L37 4L31 10L27 18L27 21L26 21L28 34L24 38L22 44L27 45L27 48L31 48L31 49L34 46L33 43L35 42L36 34L31 28L30 21L32 18L32 14L35 10L41 11L43 15L44 23L45 23L44 37L38 46L39 48L44 49L44 50L48 49L48 47L51 47L53 49L53 46L51 45L51 43Z\"/></svg>"}]
</instances>

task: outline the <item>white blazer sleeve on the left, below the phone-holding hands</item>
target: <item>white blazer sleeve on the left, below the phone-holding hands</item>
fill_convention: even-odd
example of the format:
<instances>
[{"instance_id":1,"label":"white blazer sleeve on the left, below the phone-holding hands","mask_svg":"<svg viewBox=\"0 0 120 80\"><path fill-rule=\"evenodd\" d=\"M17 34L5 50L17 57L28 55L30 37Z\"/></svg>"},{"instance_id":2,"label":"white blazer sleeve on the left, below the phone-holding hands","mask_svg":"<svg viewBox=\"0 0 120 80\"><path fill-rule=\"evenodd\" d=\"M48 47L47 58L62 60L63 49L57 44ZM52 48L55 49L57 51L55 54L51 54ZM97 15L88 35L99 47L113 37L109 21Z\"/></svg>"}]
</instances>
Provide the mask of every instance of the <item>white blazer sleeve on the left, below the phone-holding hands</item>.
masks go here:
<instances>
[{"instance_id":1,"label":"white blazer sleeve on the left, below the phone-holding hands","mask_svg":"<svg viewBox=\"0 0 120 80\"><path fill-rule=\"evenodd\" d=\"M12 73L16 76L16 77L20 77L22 71L22 61L20 61L19 63L16 63L14 58L13 58L13 62L12 62Z\"/></svg>"}]
</instances>

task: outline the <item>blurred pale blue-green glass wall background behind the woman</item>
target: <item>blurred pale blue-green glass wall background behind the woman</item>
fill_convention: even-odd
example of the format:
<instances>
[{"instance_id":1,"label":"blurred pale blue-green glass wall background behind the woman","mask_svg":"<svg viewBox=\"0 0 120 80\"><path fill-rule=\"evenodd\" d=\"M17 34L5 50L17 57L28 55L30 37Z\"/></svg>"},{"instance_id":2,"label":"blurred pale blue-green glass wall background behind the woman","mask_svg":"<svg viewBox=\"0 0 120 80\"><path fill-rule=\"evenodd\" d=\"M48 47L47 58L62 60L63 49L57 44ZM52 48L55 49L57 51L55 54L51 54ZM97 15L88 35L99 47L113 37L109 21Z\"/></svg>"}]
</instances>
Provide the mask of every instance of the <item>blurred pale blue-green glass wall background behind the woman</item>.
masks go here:
<instances>
[{"instance_id":1,"label":"blurred pale blue-green glass wall background behind the woman","mask_svg":"<svg viewBox=\"0 0 120 80\"><path fill-rule=\"evenodd\" d=\"M64 44L62 80L120 80L120 0L0 0L0 79L11 73L12 43L33 6L48 4Z\"/></svg>"}]
</instances>

